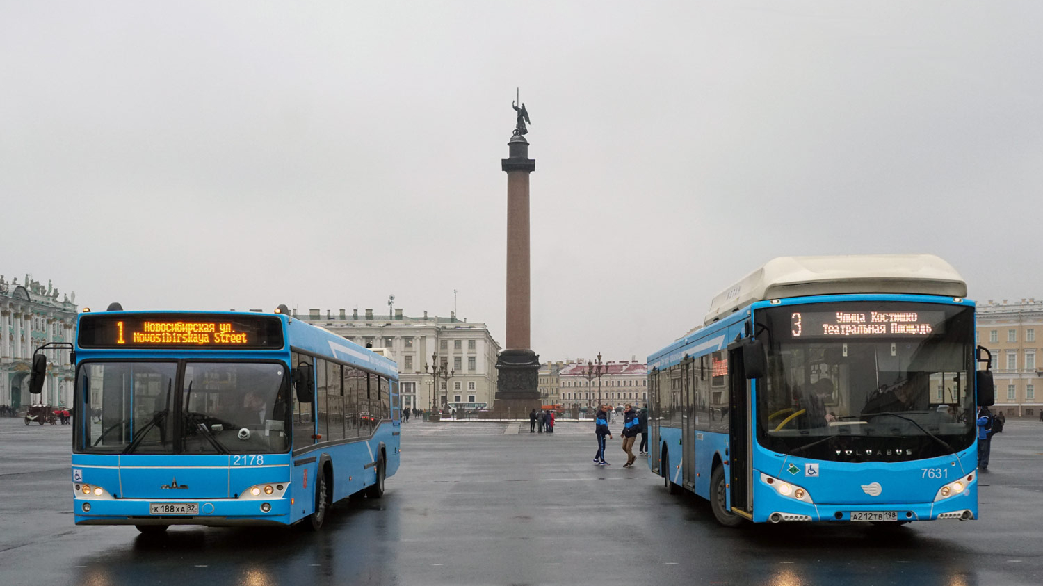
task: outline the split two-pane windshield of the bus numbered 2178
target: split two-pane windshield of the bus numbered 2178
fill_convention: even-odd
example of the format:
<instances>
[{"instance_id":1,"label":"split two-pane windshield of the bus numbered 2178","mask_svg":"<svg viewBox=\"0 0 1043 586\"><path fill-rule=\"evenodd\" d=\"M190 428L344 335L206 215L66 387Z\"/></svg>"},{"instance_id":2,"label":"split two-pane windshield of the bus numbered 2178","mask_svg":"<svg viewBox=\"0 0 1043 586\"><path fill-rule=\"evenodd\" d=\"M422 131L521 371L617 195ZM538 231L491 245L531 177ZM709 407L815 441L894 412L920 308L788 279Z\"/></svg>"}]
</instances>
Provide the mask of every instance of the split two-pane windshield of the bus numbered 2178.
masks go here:
<instances>
[{"instance_id":1,"label":"split two-pane windshield of the bus numbered 2178","mask_svg":"<svg viewBox=\"0 0 1043 586\"><path fill-rule=\"evenodd\" d=\"M76 425L75 445L102 454L286 451L286 370L281 363L84 363L77 393L90 417Z\"/></svg>"}]
</instances>

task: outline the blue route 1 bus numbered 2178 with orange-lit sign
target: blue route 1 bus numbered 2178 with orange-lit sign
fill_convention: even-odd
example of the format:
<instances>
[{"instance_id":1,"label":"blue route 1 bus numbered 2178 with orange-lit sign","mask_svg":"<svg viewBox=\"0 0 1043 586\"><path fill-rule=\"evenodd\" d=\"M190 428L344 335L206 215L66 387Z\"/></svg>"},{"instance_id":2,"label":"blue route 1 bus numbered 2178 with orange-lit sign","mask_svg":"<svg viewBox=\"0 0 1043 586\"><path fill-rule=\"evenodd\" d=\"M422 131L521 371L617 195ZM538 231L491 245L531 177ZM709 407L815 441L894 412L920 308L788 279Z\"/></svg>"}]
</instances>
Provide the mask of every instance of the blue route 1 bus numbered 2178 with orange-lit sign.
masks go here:
<instances>
[{"instance_id":1,"label":"blue route 1 bus numbered 2178 with orange-lit sign","mask_svg":"<svg viewBox=\"0 0 1043 586\"><path fill-rule=\"evenodd\" d=\"M274 313L78 316L76 524L289 526L384 493L399 462L395 363ZM48 344L33 357L39 392Z\"/></svg>"}]
</instances>

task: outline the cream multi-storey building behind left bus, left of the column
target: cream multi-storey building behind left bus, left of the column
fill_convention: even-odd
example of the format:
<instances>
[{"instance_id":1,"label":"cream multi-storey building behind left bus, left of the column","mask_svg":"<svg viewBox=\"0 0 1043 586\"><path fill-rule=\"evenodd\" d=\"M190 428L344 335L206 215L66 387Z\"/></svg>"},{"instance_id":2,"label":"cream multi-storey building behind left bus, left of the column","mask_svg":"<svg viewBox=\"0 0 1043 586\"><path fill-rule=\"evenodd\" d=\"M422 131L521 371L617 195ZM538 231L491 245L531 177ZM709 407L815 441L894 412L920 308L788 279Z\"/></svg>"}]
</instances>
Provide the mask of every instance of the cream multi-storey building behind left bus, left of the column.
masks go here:
<instances>
[{"instance_id":1,"label":"cream multi-storey building behind left bus, left of the column","mask_svg":"<svg viewBox=\"0 0 1043 586\"><path fill-rule=\"evenodd\" d=\"M450 317L408 317L402 310L394 315L374 315L365 310L347 313L339 310L295 311L297 319L325 327L330 332L365 346L387 348L398 363L399 390L406 409L431 409L445 402L486 402L492 407L496 394L496 356L500 344L484 323L468 322L451 313ZM448 381L426 370L432 355L453 371ZM434 391L433 391L434 389Z\"/></svg>"}]
</instances>

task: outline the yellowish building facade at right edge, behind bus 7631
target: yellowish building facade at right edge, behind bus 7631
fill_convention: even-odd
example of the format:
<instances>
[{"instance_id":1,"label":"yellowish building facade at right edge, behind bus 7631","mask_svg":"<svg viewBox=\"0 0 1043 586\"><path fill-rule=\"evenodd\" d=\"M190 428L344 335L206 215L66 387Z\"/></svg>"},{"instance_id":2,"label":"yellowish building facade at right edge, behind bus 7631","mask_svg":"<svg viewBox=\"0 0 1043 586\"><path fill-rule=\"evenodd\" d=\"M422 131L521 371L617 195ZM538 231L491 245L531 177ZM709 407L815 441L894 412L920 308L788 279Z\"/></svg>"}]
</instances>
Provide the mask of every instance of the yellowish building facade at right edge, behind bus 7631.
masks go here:
<instances>
[{"instance_id":1,"label":"yellowish building facade at right edge, behind bus 7631","mask_svg":"<svg viewBox=\"0 0 1043 586\"><path fill-rule=\"evenodd\" d=\"M993 300L977 306L978 345L992 352L996 406L1008 416L1039 417L1043 383L1043 301Z\"/></svg>"}]
</instances>

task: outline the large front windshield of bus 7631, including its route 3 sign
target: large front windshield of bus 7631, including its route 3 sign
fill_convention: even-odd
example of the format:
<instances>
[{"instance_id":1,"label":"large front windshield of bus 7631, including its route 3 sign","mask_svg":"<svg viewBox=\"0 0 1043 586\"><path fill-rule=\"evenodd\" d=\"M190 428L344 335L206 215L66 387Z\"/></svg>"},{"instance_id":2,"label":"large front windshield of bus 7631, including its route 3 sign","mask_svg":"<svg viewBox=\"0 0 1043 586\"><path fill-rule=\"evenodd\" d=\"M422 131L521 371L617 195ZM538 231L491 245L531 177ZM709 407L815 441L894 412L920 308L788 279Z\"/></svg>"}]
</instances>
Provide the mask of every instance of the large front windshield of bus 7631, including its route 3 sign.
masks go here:
<instances>
[{"instance_id":1,"label":"large front windshield of bus 7631, including its route 3 sign","mask_svg":"<svg viewBox=\"0 0 1043 586\"><path fill-rule=\"evenodd\" d=\"M757 323L769 347L756 393L765 447L865 462L930 458L973 443L970 308L787 306L758 312Z\"/></svg>"}]
</instances>

